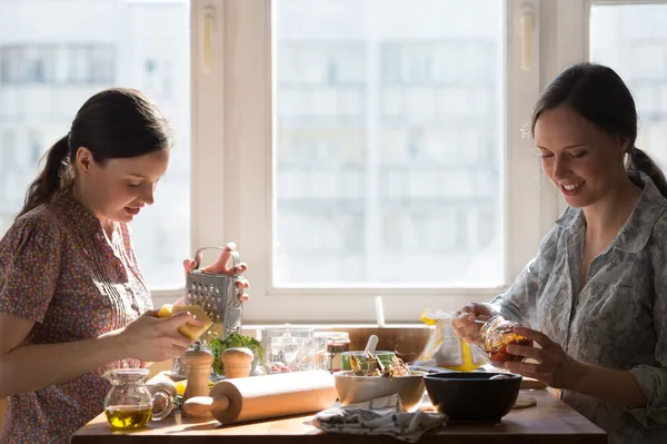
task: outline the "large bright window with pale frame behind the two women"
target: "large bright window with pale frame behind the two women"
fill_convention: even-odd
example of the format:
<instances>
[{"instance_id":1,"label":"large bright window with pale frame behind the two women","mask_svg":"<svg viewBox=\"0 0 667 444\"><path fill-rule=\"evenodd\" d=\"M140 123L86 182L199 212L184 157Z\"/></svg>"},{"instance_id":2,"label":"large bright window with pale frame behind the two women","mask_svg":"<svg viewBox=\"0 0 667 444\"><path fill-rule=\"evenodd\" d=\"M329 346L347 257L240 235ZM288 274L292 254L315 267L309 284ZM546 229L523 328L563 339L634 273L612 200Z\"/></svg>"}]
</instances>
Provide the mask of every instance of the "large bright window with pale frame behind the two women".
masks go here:
<instances>
[{"instance_id":1,"label":"large bright window with pale frame behind the two women","mask_svg":"<svg viewBox=\"0 0 667 444\"><path fill-rule=\"evenodd\" d=\"M150 284L176 290L156 304L183 257L229 240L250 266L246 323L490 299L565 208L522 129L578 61L628 82L638 146L667 166L667 0L51 1L76 18L0 2L0 149L32 156L30 131L49 145L107 86L151 95L178 136L133 227ZM0 220L33 168L3 172Z\"/></svg>"}]
</instances>

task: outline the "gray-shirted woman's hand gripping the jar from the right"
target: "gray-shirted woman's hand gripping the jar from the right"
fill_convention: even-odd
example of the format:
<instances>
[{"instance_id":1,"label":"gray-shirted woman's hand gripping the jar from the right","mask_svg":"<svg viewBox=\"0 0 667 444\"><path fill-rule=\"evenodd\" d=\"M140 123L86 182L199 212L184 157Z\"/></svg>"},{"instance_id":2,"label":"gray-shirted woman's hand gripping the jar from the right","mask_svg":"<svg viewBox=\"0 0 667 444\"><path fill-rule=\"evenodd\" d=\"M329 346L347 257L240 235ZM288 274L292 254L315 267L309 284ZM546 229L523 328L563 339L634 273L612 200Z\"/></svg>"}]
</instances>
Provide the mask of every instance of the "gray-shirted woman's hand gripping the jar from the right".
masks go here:
<instances>
[{"instance_id":1,"label":"gray-shirted woman's hand gripping the jar from the right","mask_svg":"<svg viewBox=\"0 0 667 444\"><path fill-rule=\"evenodd\" d=\"M535 341L541 348L510 344L507 353L517 356L529 357L537 364L507 362L505 368L534 379L539 379L554 388L571 388L575 386L578 375L583 372L581 364L571 358L563 347L551 341L544 333L528 327L515 327L517 335Z\"/></svg>"}]
</instances>

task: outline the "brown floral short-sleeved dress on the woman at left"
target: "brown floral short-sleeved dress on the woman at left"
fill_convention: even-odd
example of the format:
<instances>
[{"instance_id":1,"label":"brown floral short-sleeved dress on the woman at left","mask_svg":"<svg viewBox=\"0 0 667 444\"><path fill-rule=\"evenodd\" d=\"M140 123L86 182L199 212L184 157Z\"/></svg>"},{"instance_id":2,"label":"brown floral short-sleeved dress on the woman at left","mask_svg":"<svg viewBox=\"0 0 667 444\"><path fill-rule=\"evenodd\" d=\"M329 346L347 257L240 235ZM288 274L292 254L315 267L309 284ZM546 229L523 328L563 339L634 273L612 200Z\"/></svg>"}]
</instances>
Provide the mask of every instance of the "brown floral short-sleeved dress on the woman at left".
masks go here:
<instances>
[{"instance_id":1,"label":"brown floral short-sleeved dress on the woman at left","mask_svg":"<svg viewBox=\"0 0 667 444\"><path fill-rule=\"evenodd\" d=\"M0 241L0 313L36 323L27 346L94 338L151 307L129 227L116 223L108 240L99 219L68 195L22 216ZM67 443L103 411L109 384L102 375L139 366L135 359L110 363L10 396L0 443Z\"/></svg>"}]
</instances>

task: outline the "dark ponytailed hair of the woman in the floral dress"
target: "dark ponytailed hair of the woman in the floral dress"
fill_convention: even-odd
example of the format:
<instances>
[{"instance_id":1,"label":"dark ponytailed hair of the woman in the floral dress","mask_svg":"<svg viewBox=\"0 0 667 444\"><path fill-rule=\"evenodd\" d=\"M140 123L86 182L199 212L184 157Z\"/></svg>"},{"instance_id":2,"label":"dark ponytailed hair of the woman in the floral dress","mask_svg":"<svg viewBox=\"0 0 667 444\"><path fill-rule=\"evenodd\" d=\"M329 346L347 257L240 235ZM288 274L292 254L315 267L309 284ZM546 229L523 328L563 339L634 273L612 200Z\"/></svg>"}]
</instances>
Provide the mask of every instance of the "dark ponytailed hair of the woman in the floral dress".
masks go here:
<instances>
[{"instance_id":1,"label":"dark ponytailed hair of the woman in the floral dress","mask_svg":"<svg viewBox=\"0 0 667 444\"><path fill-rule=\"evenodd\" d=\"M98 92L79 109L69 134L44 155L46 165L30 184L18 217L71 187L80 147L103 165L108 159L142 156L171 145L169 120L141 92L123 88Z\"/></svg>"}]
</instances>

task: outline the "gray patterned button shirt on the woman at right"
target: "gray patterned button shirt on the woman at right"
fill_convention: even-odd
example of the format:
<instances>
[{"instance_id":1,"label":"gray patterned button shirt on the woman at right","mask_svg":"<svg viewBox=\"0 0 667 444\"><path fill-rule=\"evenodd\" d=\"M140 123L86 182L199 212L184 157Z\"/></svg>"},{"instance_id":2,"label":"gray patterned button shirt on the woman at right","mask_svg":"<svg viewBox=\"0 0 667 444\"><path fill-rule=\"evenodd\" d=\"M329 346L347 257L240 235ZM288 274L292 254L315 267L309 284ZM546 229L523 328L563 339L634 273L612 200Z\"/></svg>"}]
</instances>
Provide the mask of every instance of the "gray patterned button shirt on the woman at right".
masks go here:
<instances>
[{"instance_id":1,"label":"gray patterned button shirt on the woman at right","mask_svg":"<svg viewBox=\"0 0 667 444\"><path fill-rule=\"evenodd\" d=\"M568 208L539 254L491 303L577 361L629 371L648 399L624 408L564 391L564 401L609 434L609 442L667 443L667 199L646 175L635 209L588 269L577 294L586 220ZM614 389L609 387L609 389Z\"/></svg>"}]
</instances>

